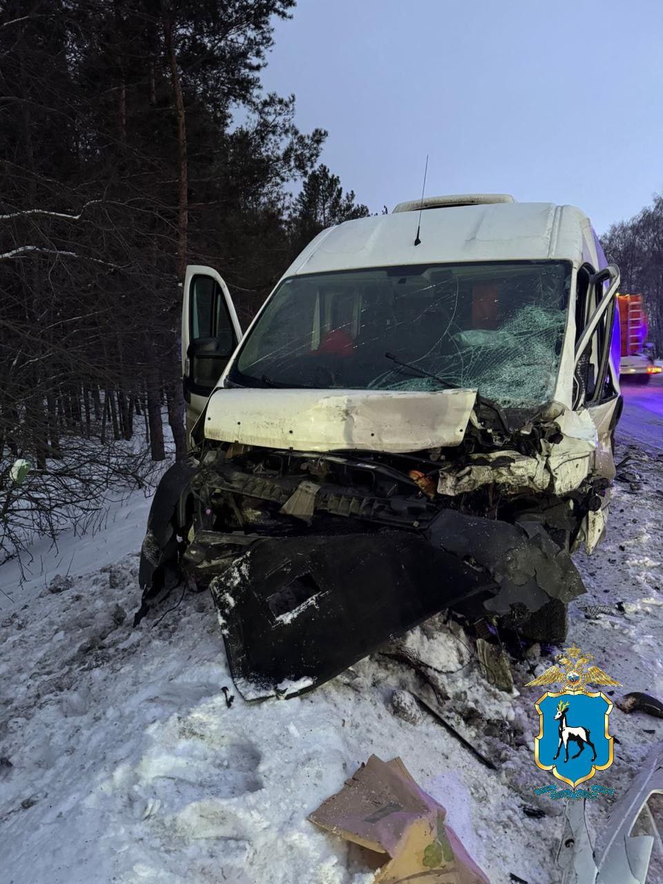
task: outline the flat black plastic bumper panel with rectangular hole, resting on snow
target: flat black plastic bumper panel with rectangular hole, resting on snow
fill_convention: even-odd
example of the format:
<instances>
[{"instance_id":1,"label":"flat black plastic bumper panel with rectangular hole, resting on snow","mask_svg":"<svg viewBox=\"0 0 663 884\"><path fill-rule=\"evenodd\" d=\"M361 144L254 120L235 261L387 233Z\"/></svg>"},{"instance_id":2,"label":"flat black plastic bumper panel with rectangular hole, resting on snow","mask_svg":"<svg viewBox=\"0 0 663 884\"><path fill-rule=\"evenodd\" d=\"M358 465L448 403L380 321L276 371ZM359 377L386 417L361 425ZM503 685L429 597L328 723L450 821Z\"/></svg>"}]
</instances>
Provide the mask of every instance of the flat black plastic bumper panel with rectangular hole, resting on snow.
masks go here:
<instances>
[{"instance_id":1,"label":"flat black plastic bumper panel with rectangular hole, resting on snow","mask_svg":"<svg viewBox=\"0 0 663 884\"><path fill-rule=\"evenodd\" d=\"M242 697L296 697L497 584L413 532L264 537L210 583Z\"/></svg>"}]
</instances>

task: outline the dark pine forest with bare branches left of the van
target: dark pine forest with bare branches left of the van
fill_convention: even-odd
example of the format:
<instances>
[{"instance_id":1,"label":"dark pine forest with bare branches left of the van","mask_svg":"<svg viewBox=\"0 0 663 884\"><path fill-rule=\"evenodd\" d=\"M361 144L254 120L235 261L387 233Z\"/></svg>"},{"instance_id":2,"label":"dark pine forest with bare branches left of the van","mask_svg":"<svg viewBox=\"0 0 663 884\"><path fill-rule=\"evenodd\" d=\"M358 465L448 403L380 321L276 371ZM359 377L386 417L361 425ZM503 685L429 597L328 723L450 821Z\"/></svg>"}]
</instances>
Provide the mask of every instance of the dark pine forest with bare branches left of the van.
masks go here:
<instances>
[{"instance_id":1,"label":"dark pine forest with bare branches left of the van","mask_svg":"<svg viewBox=\"0 0 663 884\"><path fill-rule=\"evenodd\" d=\"M316 232L369 214L262 87L294 5L0 2L0 564L149 484L165 421L185 453L187 263L246 326Z\"/></svg>"}]
</instances>

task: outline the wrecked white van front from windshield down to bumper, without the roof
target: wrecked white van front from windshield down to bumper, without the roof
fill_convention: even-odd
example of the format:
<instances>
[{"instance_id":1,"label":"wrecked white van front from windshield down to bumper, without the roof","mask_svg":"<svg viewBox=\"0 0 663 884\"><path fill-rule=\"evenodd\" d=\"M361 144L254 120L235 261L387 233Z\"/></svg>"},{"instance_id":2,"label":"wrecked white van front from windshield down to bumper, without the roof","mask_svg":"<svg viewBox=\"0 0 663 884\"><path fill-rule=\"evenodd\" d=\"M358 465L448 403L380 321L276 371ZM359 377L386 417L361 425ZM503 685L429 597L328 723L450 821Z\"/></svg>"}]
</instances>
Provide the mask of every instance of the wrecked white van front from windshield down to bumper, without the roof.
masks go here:
<instances>
[{"instance_id":1,"label":"wrecked white van front from windshield down to bumper, without the roof","mask_svg":"<svg viewBox=\"0 0 663 884\"><path fill-rule=\"evenodd\" d=\"M561 641L621 406L619 274L598 263L286 274L157 490L141 613L169 580L209 587L246 699L310 690L442 609Z\"/></svg>"}]
</instances>

